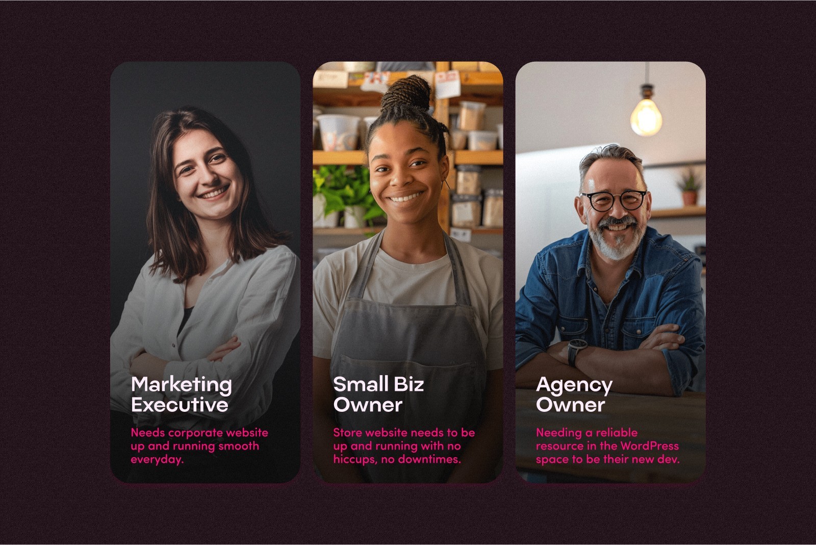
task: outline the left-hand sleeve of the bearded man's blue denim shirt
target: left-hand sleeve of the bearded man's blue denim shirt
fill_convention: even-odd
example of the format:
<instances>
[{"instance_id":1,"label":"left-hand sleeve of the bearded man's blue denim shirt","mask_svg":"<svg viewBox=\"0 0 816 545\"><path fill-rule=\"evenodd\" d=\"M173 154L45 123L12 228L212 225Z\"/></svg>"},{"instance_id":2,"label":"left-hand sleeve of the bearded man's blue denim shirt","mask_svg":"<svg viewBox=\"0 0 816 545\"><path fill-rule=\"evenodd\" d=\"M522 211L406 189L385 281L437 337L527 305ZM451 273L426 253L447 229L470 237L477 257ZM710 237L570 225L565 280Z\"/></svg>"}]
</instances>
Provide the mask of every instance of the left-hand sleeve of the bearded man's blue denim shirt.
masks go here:
<instances>
[{"instance_id":1,"label":"left-hand sleeve of the bearded man's blue denim shirt","mask_svg":"<svg viewBox=\"0 0 816 545\"><path fill-rule=\"evenodd\" d=\"M527 283L516 302L516 369L546 352L552 343L558 313L557 299L543 272L543 258L536 255Z\"/></svg>"}]
</instances>

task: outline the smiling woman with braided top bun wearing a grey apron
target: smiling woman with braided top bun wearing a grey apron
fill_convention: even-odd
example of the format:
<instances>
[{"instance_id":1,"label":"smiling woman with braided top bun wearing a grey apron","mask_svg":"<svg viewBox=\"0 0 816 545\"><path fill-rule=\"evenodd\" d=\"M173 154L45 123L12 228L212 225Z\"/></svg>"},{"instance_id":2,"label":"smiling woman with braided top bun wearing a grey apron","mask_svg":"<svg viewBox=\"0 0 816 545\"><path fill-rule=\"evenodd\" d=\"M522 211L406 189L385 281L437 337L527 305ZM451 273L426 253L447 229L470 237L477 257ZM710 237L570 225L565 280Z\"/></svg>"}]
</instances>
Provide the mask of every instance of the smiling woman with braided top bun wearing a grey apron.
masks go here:
<instances>
[{"instance_id":1,"label":"smiling woman with braided top bun wearing a grey apron","mask_svg":"<svg viewBox=\"0 0 816 545\"><path fill-rule=\"evenodd\" d=\"M314 272L314 459L326 481L490 481L501 454L502 264L448 237L439 224L450 162L447 128L428 114L430 96L418 76L395 82L384 95L365 151L371 194L388 227L329 255ZM380 377L388 392L344 391L335 398L345 381L370 384ZM421 382L422 389L399 391L398 378ZM347 410L365 402L382 404L384 412ZM398 409L385 408L393 406ZM476 434L469 441L452 441L450 433L440 439L462 445L455 456L447 446L441 453L453 463L427 453L416 463L379 463L382 454L394 454L383 445L365 451L376 463L337 463L342 440L335 428Z\"/></svg>"}]
</instances>

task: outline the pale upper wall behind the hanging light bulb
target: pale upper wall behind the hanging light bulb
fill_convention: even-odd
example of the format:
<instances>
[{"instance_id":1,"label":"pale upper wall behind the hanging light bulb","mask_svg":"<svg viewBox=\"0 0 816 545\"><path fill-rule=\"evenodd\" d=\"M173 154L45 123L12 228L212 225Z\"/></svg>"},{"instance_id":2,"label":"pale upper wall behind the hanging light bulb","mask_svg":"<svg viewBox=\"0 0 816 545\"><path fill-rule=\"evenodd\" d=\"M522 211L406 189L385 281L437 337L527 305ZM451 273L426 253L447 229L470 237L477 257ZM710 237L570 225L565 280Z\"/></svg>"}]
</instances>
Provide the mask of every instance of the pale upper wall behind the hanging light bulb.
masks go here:
<instances>
[{"instance_id":1,"label":"pale upper wall behind the hanging light bulb","mask_svg":"<svg viewBox=\"0 0 816 545\"><path fill-rule=\"evenodd\" d=\"M516 77L516 152L615 142L644 164L705 159L703 71L692 63L649 63L663 129L648 137L629 126L644 78L643 62L526 64Z\"/></svg>"}]
</instances>

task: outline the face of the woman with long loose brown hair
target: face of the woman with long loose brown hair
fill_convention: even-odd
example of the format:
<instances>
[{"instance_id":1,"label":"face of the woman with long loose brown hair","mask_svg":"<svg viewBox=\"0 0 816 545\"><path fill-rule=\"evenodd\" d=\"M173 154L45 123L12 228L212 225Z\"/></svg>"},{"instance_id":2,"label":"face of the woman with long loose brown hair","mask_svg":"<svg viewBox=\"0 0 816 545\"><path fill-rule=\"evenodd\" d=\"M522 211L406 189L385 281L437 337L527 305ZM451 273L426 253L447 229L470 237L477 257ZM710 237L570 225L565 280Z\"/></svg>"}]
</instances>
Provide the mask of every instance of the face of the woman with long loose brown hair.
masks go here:
<instances>
[{"instance_id":1,"label":"face of the woman with long loose brown hair","mask_svg":"<svg viewBox=\"0 0 816 545\"><path fill-rule=\"evenodd\" d=\"M244 179L215 136L203 129L181 135L171 161L175 191L198 224L228 220L241 202Z\"/></svg>"}]
</instances>

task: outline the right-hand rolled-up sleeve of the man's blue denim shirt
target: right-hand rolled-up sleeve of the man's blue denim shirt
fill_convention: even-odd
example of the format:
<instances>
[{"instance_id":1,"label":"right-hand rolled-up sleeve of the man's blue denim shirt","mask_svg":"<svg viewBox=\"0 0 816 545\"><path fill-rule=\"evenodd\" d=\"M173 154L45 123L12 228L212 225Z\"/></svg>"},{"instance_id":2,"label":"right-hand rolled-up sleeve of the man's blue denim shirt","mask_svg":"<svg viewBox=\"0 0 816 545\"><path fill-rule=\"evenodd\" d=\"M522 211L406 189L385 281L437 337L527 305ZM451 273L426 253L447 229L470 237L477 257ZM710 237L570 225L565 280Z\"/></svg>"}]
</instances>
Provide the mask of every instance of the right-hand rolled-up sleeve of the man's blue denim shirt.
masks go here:
<instances>
[{"instance_id":1,"label":"right-hand rolled-up sleeve of the man's blue denim shirt","mask_svg":"<svg viewBox=\"0 0 816 545\"><path fill-rule=\"evenodd\" d=\"M685 342L676 350L663 350L672 390L680 396L697 374L699 357L706 346L705 310L700 274L703 264L694 257L684 263L663 290L658 321L660 324L677 324L678 333Z\"/></svg>"}]
</instances>

